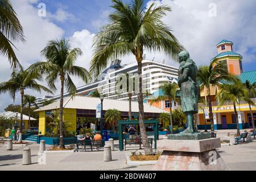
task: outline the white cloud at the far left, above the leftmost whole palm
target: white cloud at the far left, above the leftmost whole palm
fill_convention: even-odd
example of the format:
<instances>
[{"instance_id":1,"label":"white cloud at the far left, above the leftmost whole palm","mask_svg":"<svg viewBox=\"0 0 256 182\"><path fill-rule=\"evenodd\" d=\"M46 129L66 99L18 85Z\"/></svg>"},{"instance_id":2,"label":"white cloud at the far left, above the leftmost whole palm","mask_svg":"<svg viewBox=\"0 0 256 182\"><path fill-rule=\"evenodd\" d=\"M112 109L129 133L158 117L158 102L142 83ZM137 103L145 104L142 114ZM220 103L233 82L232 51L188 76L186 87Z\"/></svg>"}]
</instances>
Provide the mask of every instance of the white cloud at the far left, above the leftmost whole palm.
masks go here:
<instances>
[{"instance_id":1,"label":"white cloud at the far left, above the leftmost whole palm","mask_svg":"<svg viewBox=\"0 0 256 182\"><path fill-rule=\"evenodd\" d=\"M43 61L43 56L40 55L40 51L46 46L48 40L61 38L64 35L64 30L57 27L56 24L49 20L38 16L38 9L32 6L32 3L38 1L19 0L11 2L13 3L14 10L18 14L20 23L23 26L24 35L26 36L26 43L15 44L18 48L18 50L15 50L15 53L23 67L27 68L32 63ZM10 78L12 70L10 69L10 64L6 57L0 57L0 60L0 82L3 82ZM46 84L44 83L44 85ZM26 94L42 96L43 93L40 94L26 90ZM20 103L19 100L19 93L17 93L15 103ZM13 102L7 93L0 94L0 101L0 110L3 110L5 106Z\"/></svg>"}]
</instances>

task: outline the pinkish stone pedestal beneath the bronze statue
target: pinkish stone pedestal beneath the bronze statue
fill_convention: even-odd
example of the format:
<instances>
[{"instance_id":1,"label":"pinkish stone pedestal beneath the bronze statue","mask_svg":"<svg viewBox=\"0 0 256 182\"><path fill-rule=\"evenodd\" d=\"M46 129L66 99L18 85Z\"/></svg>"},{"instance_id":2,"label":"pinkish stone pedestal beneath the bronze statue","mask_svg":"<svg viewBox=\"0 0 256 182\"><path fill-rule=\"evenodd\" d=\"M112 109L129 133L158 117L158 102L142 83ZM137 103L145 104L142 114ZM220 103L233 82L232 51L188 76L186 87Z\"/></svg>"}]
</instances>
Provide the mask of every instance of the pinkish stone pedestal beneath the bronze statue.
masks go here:
<instances>
[{"instance_id":1,"label":"pinkish stone pedestal beneath the bronze statue","mask_svg":"<svg viewBox=\"0 0 256 182\"><path fill-rule=\"evenodd\" d=\"M159 140L158 150L163 150L155 171L224 171L224 160L216 151L220 138L203 140Z\"/></svg>"}]
</instances>

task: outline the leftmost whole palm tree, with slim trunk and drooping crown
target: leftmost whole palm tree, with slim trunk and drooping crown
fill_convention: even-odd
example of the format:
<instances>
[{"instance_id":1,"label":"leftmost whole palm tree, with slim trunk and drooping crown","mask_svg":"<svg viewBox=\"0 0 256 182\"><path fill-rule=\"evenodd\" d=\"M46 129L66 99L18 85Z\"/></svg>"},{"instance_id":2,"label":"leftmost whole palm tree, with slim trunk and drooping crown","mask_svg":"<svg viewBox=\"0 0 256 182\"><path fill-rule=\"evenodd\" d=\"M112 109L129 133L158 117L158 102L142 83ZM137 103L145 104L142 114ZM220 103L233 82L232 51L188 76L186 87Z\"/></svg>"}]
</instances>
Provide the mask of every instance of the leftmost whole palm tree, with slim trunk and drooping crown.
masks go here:
<instances>
[{"instance_id":1,"label":"leftmost whole palm tree, with slim trunk and drooping crown","mask_svg":"<svg viewBox=\"0 0 256 182\"><path fill-rule=\"evenodd\" d=\"M33 89L33 90L36 90L37 92L41 92L41 90L44 90L46 92L52 93L51 90L49 90L45 86L38 84L36 80L42 81L42 76L40 75L39 72L36 72L36 71L30 72L29 69L23 70L23 68L20 67L20 71L14 71L11 74L10 80L6 82L2 82L0 84L0 93L9 92L10 96L13 97L13 100L15 100L15 93L18 91L20 92L20 98L21 98L20 130L21 131L22 131L23 109L24 109L24 90Z\"/></svg>"}]
</instances>

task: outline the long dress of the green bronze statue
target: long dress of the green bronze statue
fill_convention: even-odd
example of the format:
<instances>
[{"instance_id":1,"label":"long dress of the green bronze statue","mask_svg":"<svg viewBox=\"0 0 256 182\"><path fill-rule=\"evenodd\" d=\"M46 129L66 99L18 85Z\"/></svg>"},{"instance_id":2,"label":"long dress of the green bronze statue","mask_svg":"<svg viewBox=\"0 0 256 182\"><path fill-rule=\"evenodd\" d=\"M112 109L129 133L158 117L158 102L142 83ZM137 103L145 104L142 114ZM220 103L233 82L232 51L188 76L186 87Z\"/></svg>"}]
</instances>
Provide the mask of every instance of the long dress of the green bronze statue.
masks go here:
<instances>
[{"instance_id":1,"label":"long dress of the green bronze statue","mask_svg":"<svg viewBox=\"0 0 256 182\"><path fill-rule=\"evenodd\" d=\"M197 74L196 66L185 68L189 72L189 77L181 83L181 105L183 112L192 111L194 114L198 113L198 101L200 97L199 85L193 81ZM194 78L194 79L192 79Z\"/></svg>"}]
</instances>

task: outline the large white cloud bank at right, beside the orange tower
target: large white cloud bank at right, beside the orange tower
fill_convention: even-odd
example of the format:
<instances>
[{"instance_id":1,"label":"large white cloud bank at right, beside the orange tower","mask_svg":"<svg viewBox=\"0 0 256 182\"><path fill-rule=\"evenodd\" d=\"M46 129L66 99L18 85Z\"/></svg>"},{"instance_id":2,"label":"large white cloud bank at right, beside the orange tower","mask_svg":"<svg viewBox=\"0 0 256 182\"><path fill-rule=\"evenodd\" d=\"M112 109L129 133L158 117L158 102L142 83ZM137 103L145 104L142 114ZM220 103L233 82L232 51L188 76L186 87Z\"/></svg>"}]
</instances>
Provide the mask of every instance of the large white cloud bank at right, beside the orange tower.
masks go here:
<instances>
[{"instance_id":1,"label":"large white cloud bank at right, beside the orange tower","mask_svg":"<svg viewBox=\"0 0 256 182\"><path fill-rule=\"evenodd\" d=\"M255 1L221 1L214 3L217 7L217 16L209 16L212 0L162 0L150 1L157 5L169 5L172 11L165 16L164 23L173 30L173 34L189 51L197 64L208 64L210 59L217 55L216 44L222 39L234 43L234 52L243 56L243 62L255 60L256 47L256 15ZM252 49L253 52L249 52ZM161 53L147 53L147 57L157 57L159 60L173 61Z\"/></svg>"}]
</instances>

